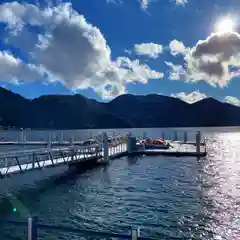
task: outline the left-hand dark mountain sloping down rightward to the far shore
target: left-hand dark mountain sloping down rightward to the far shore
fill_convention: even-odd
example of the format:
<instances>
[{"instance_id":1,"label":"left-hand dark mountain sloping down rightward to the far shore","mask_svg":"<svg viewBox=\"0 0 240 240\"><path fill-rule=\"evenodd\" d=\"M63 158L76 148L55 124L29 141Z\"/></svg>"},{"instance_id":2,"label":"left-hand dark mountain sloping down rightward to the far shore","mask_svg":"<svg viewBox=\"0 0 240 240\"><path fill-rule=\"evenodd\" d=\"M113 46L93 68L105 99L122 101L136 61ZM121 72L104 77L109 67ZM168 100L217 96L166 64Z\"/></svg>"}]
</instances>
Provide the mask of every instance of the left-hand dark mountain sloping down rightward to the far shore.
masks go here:
<instances>
[{"instance_id":1,"label":"left-hand dark mountain sloping down rightward to the far shore","mask_svg":"<svg viewBox=\"0 0 240 240\"><path fill-rule=\"evenodd\" d=\"M0 88L0 117L2 122L18 128L131 127L125 119L107 112L104 104L81 95L49 95L28 100L3 88Z\"/></svg>"}]
</instances>

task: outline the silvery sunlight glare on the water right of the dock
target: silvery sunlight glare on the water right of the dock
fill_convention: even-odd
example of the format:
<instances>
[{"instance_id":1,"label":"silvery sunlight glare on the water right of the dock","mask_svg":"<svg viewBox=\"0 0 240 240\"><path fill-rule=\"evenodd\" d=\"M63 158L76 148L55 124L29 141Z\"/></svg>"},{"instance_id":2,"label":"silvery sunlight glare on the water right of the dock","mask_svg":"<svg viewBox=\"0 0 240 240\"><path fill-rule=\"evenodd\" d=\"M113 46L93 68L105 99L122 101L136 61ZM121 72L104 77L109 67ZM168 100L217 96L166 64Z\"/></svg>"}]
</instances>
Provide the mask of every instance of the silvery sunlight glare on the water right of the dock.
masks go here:
<instances>
[{"instance_id":1,"label":"silvery sunlight glare on the water right of the dock","mask_svg":"<svg viewBox=\"0 0 240 240\"><path fill-rule=\"evenodd\" d=\"M203 193L211 217L209 229L218 239L240 239L240 134L209 137L209 156L202 174Z\"/></svg>"}]
</instances>

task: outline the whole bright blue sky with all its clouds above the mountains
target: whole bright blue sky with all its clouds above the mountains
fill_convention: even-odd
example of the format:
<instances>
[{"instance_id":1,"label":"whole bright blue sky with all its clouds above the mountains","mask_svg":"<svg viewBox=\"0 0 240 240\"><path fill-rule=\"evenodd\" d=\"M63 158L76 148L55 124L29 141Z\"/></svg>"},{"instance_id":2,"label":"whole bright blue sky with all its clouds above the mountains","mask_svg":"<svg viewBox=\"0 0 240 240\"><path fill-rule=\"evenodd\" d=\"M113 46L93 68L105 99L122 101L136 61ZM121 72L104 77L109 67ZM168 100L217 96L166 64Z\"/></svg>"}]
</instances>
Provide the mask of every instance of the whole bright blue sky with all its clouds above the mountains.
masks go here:
<instances>
[{"instance_id":1,"label":"whole bright blue sky with all its clouds above the mountains","mask_svg":"<svg viewBox=\"0 0 240 240\"><path fill-rule=\"evenodd\" d=\"M157 93L240 105L237 0L0 4L1 85L27 98ZM227 20L232 29L220 27Z\"/></svg>"}]
</instances>

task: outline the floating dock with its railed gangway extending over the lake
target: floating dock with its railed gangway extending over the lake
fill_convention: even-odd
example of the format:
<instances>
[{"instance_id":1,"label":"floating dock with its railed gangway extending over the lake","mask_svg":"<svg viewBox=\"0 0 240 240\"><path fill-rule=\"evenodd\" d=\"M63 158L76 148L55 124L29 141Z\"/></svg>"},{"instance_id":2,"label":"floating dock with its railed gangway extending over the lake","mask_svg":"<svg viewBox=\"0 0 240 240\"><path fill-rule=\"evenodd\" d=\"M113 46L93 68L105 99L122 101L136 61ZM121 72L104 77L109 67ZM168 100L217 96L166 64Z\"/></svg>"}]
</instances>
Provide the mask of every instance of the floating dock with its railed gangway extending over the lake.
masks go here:
<instances>
[{"instance_id":1,"label":"floating dock with its railed gangway extending over the lake","mask_svg":"<svg viewBox=\"0 0 240 240\"><path fill-rule=\"evenodd\" d=\"M41 170L56 167L61 164L75 165L83 163L106 164L113 158L121 156L175 156L175 157L205 157L207 147L201 134L196 134L196 142L167 141L167 149L146 149L145 145L138 145L135 137L128 135L113 139L109 143L106 133L97 139L98 144L89 146L67 145L65 147L49 146L40 149L9 151L0 153L0 177L25 173L30 170ZM186 140L186 139L185 139Z\"/></svg>"}]
</instances>

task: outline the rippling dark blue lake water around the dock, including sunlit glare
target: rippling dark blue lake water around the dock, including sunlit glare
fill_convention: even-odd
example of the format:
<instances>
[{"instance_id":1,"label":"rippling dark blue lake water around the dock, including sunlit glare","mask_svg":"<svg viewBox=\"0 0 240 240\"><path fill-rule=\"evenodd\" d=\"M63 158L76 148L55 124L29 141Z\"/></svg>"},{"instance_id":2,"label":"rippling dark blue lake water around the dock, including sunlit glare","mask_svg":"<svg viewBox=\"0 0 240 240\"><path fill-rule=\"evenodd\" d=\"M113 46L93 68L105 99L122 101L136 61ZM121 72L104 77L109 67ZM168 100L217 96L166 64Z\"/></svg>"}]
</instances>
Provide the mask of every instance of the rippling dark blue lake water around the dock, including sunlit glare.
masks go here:
<instances>
[{"instance_id":1,"label":"rippling dark blue lake water around the dock, including sunlit glare","mask_svg":"<svg viewBox=\"0 0 240 240\"><path fill-rule=\"evenodd\" d=\"M200 130L208 144L208 156L200 161L124 157L106 167L18 189L0 205L2 215L26 219L34 213L45 223L120 233L138 226L142 236L156 239L240 239L240 128ZM133 133L143 131L156 137L162 129ZM7 211L9 206L17 212ZM11 234L4 227L0 239L26 239L23 232L16 228ZM41 234L47 240L79 239Z\"/></svg>"}]
</instances>

